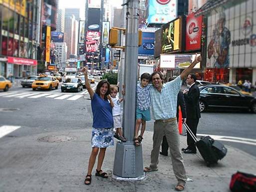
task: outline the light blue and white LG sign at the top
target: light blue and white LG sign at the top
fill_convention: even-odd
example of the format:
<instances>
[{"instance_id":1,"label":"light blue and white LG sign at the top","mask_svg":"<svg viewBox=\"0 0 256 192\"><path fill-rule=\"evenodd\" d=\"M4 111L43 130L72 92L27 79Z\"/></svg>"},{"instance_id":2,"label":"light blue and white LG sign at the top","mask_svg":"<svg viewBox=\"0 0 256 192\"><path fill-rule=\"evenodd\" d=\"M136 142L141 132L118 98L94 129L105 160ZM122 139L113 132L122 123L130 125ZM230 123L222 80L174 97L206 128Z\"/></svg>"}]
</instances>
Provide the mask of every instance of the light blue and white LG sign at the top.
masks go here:
<instances>
[{"instance_id":1,"label":"light blue and white LG sign at the top","mask_svg":"<svg viewBox=\"0 0 256 192\"><path fill-rule=\"evenodd\" d=\"M149 0L148 23L165 24L177 16L177 0Z\"/></svg>"}]
</instances>

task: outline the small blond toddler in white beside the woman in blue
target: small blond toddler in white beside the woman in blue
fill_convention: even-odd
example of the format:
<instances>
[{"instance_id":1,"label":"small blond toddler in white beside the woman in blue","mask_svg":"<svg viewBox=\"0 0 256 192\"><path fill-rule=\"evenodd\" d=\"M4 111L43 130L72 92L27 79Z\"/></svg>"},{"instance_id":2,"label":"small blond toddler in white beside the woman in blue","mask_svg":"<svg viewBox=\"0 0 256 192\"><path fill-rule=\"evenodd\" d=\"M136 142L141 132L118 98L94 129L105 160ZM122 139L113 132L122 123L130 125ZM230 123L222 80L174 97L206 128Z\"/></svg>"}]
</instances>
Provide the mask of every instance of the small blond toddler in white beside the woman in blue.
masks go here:
<instances>
[{"instance_id":1,"label":"small blond toddler in white beside the woman in blue","mask_svg":"<svg viewBox=\"0 0 256 192\"><path fill-rule=\"evenodd\" d=\"M123 98L117 96L118 87L116 85L110 85L110 95L111 99L114 103L114 107L112 108L112 115L114 120L114 129L116 129L114 138L126 142L126 138L122 134L122 126L121 126L121 106L120 103L123 101Z\"/></svg>"}]
</instances>

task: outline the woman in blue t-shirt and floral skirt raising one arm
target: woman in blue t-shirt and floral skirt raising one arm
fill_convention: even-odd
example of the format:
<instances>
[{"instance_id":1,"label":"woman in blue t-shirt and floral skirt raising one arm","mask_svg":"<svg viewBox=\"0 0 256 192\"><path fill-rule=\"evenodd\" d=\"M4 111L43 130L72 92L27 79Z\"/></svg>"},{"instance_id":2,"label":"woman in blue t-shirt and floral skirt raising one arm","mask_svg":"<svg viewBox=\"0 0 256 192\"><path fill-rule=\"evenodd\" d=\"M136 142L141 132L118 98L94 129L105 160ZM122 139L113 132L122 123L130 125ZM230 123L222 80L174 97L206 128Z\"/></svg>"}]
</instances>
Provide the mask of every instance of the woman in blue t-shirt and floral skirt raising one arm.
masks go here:
<instances>
[{"instance_id":1,"label":"woman in blue t-shirt and floral skirt raising one arm","mask_svg":"<svg viewBox=\"0 0 256 192\"><path fill-rule=\"evenodd\" d=\"M101 166L105 157L107 147L114 145L113 139L113 116L112 107L114 103L111 100L110 85L107 80L101 80L95 93L93 92L90 81L87 76L87 67L83 67L82 72L84 74L85 86L91 97L91 109L93 115L92 124L92 152L89 159L87 176L84 184L91 184L91 172L95 164L96 157L98 155L98 164L95 176L107 178L108 174L101 170ZM99 153L98 153L99 152Z\"/></svg>"}]
</instances>

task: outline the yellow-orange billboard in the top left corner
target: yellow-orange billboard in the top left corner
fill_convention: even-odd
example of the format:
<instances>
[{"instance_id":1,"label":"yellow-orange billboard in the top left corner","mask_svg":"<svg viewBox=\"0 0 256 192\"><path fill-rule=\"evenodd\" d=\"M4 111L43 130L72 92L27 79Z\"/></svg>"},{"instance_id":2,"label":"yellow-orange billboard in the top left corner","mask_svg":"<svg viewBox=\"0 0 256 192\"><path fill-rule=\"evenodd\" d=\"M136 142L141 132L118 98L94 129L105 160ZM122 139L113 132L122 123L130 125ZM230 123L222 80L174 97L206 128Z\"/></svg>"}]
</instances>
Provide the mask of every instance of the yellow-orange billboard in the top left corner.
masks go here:
<instances>
[{"instance_id":1,"label":"yellow-orange billboard in the top left corner","mask_svg":"<svg viewBox=\"0 0 256 192\"><path fill-rule=\"evenodd\" d=\"M26 1L27 0L0 0L0 4L4 4L22 16L26 16Z\"/></svg>"}]
</instances>

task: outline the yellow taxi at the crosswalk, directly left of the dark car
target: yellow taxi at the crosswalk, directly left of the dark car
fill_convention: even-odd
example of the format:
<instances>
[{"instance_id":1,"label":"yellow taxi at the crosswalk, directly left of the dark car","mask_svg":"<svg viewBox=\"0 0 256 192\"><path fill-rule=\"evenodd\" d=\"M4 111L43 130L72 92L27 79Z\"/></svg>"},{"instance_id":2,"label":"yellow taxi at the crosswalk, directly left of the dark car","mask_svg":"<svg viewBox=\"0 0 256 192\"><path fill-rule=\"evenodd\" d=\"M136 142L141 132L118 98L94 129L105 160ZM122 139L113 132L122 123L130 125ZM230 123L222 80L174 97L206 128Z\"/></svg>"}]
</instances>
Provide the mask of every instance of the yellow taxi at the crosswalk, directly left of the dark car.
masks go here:
<instances>
[{"instance_id":1,"label":"yellow taxi at the crosswalk, directly left of the dark car","mask_svg":"<svg viewBox=\"0 0 256 192\"><path fill-rule=\"evenodd\" d=\"M40 75L38 79L36 79L32 83L32 89L48 89L51 90L53 87L58 89L59 81L52 76Z\"/></svg>"}]
</instances>

